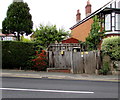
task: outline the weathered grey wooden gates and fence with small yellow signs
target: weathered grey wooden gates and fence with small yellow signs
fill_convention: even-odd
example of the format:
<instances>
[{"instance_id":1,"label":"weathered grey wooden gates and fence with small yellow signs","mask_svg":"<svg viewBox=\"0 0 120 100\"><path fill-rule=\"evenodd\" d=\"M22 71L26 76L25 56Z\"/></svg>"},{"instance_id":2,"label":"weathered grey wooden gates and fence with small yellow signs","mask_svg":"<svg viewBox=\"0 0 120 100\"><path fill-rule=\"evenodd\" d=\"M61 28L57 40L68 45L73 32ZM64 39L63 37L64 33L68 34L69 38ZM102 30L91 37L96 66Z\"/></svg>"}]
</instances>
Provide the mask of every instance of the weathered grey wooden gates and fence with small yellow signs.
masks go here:
<instances>
[{"instance_id":1,"label":"weathered grey wooden gates and fence with small yellow signs","mask_svg":"<svg viewBox=\"0 0 120 100\"><path fill-rule=\"evenodd\" d=\"M50 68L68 68L75 74L94 74L101 67L100 51L85 52L80 44L54 44L48 53Z\"/></svg>"}]
</instances>

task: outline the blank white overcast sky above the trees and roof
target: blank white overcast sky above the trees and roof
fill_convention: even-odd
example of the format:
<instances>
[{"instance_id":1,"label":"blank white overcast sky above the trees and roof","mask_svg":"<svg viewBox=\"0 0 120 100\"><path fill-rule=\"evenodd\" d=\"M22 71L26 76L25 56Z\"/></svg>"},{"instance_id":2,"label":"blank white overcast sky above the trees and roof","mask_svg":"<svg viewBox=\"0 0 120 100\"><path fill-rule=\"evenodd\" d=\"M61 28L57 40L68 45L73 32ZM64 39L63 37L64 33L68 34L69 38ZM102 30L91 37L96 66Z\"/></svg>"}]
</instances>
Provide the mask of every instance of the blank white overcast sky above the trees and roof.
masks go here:
<instances>
[{"instance_id":1,"label":"blank white overcast sky above the trees and roof","mask_svg":"<svg viewBox=\"0 0 120 100\"><path fill-rule=\"evenodd\" d=\"M90 0L92 12L96 11L111 0ZM6 17L8 6L13 0L0 0L0 29ZM28 3L34 29L39 24L52 24L58 28L69 30L76 23L76 13L80 9L82 19L85 18L87 0L24 0Z\"/></svg>"}]
</instances>

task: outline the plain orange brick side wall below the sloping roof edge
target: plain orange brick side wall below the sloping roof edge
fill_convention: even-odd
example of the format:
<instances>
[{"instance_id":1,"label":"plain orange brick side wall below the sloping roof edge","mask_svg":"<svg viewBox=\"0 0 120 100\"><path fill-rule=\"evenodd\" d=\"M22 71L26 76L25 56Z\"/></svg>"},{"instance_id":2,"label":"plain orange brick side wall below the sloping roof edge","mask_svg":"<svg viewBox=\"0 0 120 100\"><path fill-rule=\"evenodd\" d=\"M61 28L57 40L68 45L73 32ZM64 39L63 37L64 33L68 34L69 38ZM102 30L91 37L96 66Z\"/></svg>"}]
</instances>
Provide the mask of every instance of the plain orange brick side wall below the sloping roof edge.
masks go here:
<instances>
[{"instance_id":1,"label":"plain orange brick side wall below the sloping roof edge","mask_svg":"<svg viewBox=\"0 0 120 100\"><path fill-rule=\"evenodd\" d=\"M71 37L85 42L86 37L88 37L90 33L92 23L93 23L93 19L91 18L86 22L80 24L79 26L75 27L71 31Z\"/></svg>"}]
</instances>

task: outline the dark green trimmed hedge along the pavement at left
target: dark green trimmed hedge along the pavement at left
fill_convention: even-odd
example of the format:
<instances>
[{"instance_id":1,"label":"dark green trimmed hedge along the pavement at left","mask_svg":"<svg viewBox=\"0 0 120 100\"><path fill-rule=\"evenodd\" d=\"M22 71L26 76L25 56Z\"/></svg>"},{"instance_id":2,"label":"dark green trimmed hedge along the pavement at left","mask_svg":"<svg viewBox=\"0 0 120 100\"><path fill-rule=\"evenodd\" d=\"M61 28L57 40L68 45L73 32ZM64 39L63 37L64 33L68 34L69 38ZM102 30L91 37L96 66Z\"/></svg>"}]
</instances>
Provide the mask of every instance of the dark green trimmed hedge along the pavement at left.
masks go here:
<instances>
[{"instance_id":1,"label":"dark green trimmed hedge along the pavement at left","mask_svg":"<svg viewBox=\"0 0 120 100\"><path fill-rule=\"evenodd\" d=\"M34 43L3 41L2 42L2 68L25 69L27 61L35 53Z\"/></svg>"}]
</instances>

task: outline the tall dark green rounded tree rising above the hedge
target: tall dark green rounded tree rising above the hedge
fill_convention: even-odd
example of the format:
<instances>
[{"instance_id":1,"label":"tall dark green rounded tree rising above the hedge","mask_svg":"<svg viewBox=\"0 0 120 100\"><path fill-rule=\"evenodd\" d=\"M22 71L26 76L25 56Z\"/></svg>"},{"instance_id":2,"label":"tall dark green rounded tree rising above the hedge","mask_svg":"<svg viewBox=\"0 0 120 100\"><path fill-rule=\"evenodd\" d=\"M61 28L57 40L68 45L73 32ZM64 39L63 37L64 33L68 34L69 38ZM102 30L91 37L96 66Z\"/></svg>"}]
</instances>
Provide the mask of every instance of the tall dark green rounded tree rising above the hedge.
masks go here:
<instances>
[{"instance_id":1,"label":"tall dark green rounded tree rising above the hedge","mask_svg":"<svg viewBox=\"0 0 120 100\"><path fill-rule=\"evenodd\" d=\"M2 22L3 34L17 34L17 39L20 40L20 35L31 34L33 27L32 16L29 13L30 9L27 3L13 2L7 10L7 17Z\"/></svg>"}]
</instances>

